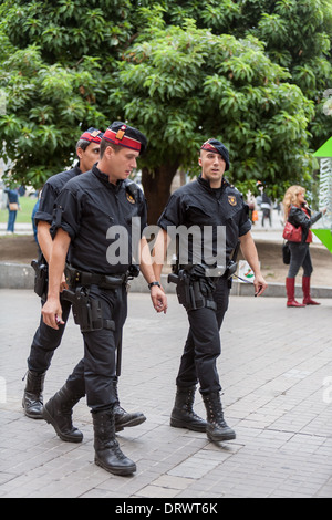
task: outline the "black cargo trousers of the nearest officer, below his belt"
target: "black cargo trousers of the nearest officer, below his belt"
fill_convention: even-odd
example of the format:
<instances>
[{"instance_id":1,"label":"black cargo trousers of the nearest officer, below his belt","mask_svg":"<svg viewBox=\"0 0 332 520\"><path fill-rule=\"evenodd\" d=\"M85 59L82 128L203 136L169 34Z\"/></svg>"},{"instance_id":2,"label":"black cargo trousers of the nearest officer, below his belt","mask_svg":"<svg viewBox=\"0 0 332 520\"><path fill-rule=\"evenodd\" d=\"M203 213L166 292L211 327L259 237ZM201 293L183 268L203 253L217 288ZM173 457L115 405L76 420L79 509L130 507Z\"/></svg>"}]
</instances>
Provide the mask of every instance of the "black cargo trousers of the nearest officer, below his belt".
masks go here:
<instances>
[{"instance_id":1,"label":"black cargo trousers of the nearest officer, below his belt","mask_svg":"<svg viewBox=\"0 0 332 520\"><path fill-rule=\"evenodd\" d=\"M86 395L91 412L108 409L117 402L116 350L122 340L122 330L127 318L127 290L123 283L115 289L89 288L89 297L100 300L104 322L112 321L113 330L100 329L82 332L84 357L68 377L66 385L75 395Z\"/></svg>"}]
</instances>

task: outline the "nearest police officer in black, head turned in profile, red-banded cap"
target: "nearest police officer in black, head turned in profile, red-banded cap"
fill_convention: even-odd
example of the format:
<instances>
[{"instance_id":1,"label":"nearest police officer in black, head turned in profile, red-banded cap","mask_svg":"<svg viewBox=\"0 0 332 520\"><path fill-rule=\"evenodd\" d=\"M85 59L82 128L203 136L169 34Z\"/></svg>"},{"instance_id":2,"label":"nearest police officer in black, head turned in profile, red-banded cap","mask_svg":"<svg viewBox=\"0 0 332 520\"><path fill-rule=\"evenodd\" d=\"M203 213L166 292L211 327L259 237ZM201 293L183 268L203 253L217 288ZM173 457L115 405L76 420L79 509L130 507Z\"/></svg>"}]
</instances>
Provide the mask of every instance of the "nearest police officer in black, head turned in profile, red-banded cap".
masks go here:
<instances>
[{"instance_id":1,"label":"nearest police officer in black, head turned in profile, red-banded cap","mask_svg":"<svg viewBox=\"0 0 332 520\"><path fill-rule=\"evenodd\" d=\"M136 465L123 455L115 438L116 349L127 314L126 282L137 259L133 236L146 226L143 191L128 184L136 158L146 147L136 128L114 122L101 143L101 155L92 171L72 179L56 200L54 241L50 261L49 295L42 309L49 326L62 326L59 300L61 273L69 250L66 298L84 337L84 357L65 385L44 406L44 418L63 440L81 440L72 426L72 403L86 394L94 425L95 462L116 475L128 475ZM133 227L136 226L134 230ZM135 232L134 232L135 231ZM120 238L118 238L120 237ZM116 254L115 254L115 251ZM118 260L118 258L121 260ZM141 260L157 312L166 312L167 299L155 280L152 262ZM65 291L64 291L65 292Z\"/></svg>"}]
</instances>

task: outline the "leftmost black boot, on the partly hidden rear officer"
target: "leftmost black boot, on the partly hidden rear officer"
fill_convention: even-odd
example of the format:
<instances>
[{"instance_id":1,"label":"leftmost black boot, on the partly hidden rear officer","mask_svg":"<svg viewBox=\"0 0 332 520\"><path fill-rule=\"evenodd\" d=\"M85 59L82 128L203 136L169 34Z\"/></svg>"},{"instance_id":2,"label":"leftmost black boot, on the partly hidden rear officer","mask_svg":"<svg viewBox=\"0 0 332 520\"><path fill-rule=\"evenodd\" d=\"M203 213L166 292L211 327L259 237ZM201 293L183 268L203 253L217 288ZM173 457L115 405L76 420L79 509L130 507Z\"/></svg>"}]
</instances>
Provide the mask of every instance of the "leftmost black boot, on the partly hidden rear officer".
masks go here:
<instances>
[{"instance_id":1,"label":"leftmost black boot, on the partly hidden rear officer","mask_svg":"<svg viewBox=\"0 0 332 520\"><path fill-rule=\"evenodd\" d=\"M27 385L23 394L22 406L24 414L31 419L43 418L43 389L46 373L28 371Z\"/></svg>"}]
</instances>

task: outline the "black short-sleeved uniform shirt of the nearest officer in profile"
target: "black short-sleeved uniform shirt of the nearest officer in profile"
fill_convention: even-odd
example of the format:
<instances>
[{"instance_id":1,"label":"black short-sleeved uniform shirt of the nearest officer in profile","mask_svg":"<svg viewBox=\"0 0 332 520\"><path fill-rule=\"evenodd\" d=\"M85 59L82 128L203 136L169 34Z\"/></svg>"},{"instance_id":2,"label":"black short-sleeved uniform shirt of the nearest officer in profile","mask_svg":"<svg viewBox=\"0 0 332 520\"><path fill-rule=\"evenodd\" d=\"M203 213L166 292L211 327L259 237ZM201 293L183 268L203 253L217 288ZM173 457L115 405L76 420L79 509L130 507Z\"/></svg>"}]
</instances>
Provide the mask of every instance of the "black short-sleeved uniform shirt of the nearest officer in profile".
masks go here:
<instances>
[{"instance_id":1,"label":"black short-sleeved uniform shirt of the nearest officer in profile","mask_svg":"<svg viewBox=\"0 0 332 520\"><path fill-rule=\"evenodd\" d=\"M96 165L66 183L56 199L52 235L62 228L71 237L69 261L73 267L98 274L127 271L132 263L132 238L139 241L147 218L145 197L139 188L135 197L128 193L126 181L111 184ZM133 231L136 236L132 235L133 217L141 219L139 229ZM118 245L117 251L110 248L112 243ZM115 263L115 257L120 262Z\"/></svg>"}]
</instances>

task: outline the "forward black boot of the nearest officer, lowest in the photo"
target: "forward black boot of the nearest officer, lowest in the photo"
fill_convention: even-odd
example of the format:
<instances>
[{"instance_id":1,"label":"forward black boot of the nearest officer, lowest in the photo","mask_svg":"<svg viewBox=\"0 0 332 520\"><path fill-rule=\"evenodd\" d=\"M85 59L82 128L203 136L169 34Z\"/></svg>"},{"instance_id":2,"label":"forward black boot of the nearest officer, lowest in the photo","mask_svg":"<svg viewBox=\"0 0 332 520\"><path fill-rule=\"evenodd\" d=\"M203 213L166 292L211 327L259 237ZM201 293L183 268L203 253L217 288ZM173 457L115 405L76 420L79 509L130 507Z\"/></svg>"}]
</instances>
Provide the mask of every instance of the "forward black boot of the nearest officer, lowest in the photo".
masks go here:
<instances>
[{"instance_id":1,"label":"forward black boot of the nearest officer, lowest in the photo","mask_svg":"<svg viewBox=\"0 0 332 520\"><path fill-rule=\"evenodd\" d=\"M132 475L136 465L120 449L115 438L114 413L112 409L92 414L94 428L94 461L114 475Z\"/></svg>"}]
</instances>

